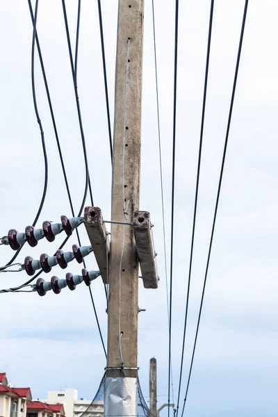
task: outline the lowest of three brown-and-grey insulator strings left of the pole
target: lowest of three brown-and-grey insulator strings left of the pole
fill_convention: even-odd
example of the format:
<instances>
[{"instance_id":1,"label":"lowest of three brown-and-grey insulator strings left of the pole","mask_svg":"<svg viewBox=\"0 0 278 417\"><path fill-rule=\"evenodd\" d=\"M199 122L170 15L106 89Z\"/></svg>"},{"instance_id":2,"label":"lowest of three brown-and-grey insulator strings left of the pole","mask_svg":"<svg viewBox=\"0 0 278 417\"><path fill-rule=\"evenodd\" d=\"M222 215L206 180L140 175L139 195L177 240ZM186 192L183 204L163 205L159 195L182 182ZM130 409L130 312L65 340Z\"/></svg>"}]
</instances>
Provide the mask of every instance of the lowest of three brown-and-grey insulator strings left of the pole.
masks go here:
<instances>
[{"instance_id":1,"label":"lowest of three brown-and-grey insulator strings left of the pole","mask_svg":"<svg viewBox=\"0 0 278 417\"><path fill-rule=\"evenodd\" d=\"M54 291L55 294L60 294L63 288L66 286L74 291L76 285L85 282L87 286L91 282L99 277L100 271L88 271L85 268L82 270L82 275L72 275L70 272L67 273L65 279L59 279L58 277L51 277L51 281L44 281L42 278L38 278L35 284L38 295L41 297L47 293L47 291Z\"/></svg>"}]
</instances>

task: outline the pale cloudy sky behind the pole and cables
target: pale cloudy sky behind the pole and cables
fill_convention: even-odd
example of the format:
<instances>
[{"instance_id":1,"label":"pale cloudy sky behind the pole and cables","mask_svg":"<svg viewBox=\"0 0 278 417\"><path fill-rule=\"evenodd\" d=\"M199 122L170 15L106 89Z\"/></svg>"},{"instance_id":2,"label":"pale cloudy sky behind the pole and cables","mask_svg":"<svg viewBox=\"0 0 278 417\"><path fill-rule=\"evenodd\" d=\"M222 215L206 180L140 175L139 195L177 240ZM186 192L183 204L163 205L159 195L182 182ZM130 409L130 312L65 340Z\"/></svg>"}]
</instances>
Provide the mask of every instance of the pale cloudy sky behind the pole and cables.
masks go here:
<instances>
[{"instance_id":1,"label":"pale cloudy sky behind the pole and cables","mask_svg":"<svg viewBox=\"0 0 278 417\"><path fill-rule=\"evenodd\" d=\"M140 283L140 381L148 393L149 359L158 361L158 406L167 401L167 304L156 120L152 4L145 0L142 98L142 177L140 208L150 211L161 277L156 291ZM181 342L193 220L195 177L202 111L209 0L180 1L177 94L177 170L174 224L172 367L177 402ZM204 147L188 338L181 389L183 399L193 348L218 186L229 101L243 17L244 0L215 0L211 63L208 77ZM77 1L67 0L72 44ZM109 99L113 117L117 1L102 0ZM172 95L174 67L174 0L156 0L158 88L165 190L167 262L170 259L172 169ZM188 392L188 416L277 416L277 13L275 0L250 0L238 75L234 113L202 322ZM31 91L32 24L27 0L0 2L1 236L24 231L38 210L44 182L40 131ZM40 0L38 35L70 190L76 212L81 205L85 169L61 2ZM101 62L97 1L83 0L79 52L79 97L95 205L110 217L111 162ZM54 129L38 57L35 57L38 108L49 158L47 199L38 222L70 216ZM89 204L89 200L88 200ZM79 228L88 244L84 228ZM55 252L55 243L24 247L18 257L38 259ZM65 247L70 250L73 236ZM1 246L0 263L13 255ZM96 268L94 256L88 268ZM80 266L70 264L69 272ZM55 274L63 278L59 268ZM49 276L47 276L49 278ZM46 279L46 277L44 277ZM1 274L1 288L26 281L26 273ZM92 292L106 339L106 313L101 279ZM2 294L0 371L10 382L31 386L33 398L48 390L76 388L92 398L106 366L92 304L85 285L47 293Z\"/></svg>"}]
</instances>

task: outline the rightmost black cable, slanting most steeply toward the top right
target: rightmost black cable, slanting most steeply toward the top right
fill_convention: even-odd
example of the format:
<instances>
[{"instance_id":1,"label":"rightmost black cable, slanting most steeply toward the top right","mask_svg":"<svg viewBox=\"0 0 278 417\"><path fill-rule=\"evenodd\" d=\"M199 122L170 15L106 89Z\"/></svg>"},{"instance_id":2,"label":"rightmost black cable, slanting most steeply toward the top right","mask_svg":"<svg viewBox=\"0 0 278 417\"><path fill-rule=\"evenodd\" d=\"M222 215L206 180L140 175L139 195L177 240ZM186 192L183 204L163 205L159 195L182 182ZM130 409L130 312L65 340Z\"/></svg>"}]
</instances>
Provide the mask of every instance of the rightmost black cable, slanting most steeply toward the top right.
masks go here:
<instances>
[{"instance_id":1,"label":"rightmost black cable, slanting most steeply toward the top right","mask_svg":"<svg viewBox=\"0 0 278 417\"><path fill-rule=\"evenodd\" d=\"M215 221L216 221L216 216L217 216L217 213L218 213L218 203L219 203L220 190L221 190L221 185L222 185L222 177L223 177L223 172L224 172L224 163L225 163L227 145L228 145L228 139L229 139L229 130L230 130L230 125L231 125L231 115L232 115L233 107L234 107L234 96L235 96L235 93L236 93L236 82L237 82L237 79L238 79L238 67L239 67L239 63L240 63L241 49L242 49L242 46L243 46L243 35L244 35L244 29L245 29L245 20L246 20L246 15L247 15L247 7L248 7L248 0L245 0L245 8L244 8L244 12L243 12L243 23L242 23L241 31L240 31L238 56L237 56L237 60L236 60L236 71L235 71L235 75L234 75L234 85L233 85L233 90L232 90L232 93L231 93L231 103L230 103L230 108L229 108L229 117L228 117L228 123L227 123L226 138L225 138L225 142L224 142L222 165L221 165L220 178L219 178L219 183L218 183L218 193L217 193L217 197L216 197L215 211L214 211L214 216L213 216L213 227L211 229L211 240L210 240L210 243L209 243L208 258L207 258L207 261L206 261L206 272L205 272L205 276L204 276L204 286L203 286L203 291L202 291L201 304L200 304L200 307L199 307L199 316L198 316L197 329L196 329L196 334L195 334L193 354L192 354L192 357L191 357L190 370L189 370L189 375L188 375L188 382L187 382L187 386L186 386L186 395L185 395L185 398L183 400L183 411L182 411L181 417L183 417L183 412L184 412L184 409L185 409L185 406L186 406L186 399L187 399L187 395L188 395L188 387L189 387L189 383L190 383L190 377L191 377L191 373L192 373L193 361L194 361L194 356L195 356L195 349L196 349L196 344L197 344L197 337L198 337L198 332L199 332L199 323L200 323L201 315L202 315L202 306L203 306L203 302L204 302L204 292L206 290L206 278L207 278L207 275L208 275L208 266L209 266L209 262L210 262L210 259L211 259L211 247L213 245L213 235L214 235L214 229L215 229Z\"/></svg>"}]
</instances>

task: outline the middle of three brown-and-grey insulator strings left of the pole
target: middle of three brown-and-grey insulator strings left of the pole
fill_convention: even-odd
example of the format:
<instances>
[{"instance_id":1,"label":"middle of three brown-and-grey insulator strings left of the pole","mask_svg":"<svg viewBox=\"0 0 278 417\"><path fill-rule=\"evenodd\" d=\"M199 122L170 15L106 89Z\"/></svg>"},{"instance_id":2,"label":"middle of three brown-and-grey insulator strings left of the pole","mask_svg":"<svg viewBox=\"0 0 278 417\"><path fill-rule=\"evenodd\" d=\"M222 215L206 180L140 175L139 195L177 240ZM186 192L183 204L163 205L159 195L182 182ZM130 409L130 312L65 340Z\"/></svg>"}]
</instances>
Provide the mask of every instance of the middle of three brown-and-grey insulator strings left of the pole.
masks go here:
<instances>
[{"instance_id":1,"label":"middle of three brown-and-grey insulator strings left of the pole","mask_svg":"<svg viewBox=\"0 0 278 417\"><path fill-rule=\"evenodd\" d=\"M72 245L72 252L63 252L58 250L55 256L48 256L47 254L41 254L40 259L34 260L31 256L26 256L24 260L24 268L28 275L34 275L36 270L42 268L44 272L50 272L51 269L59 265L60 268L67 268L67 264L73 259L76 259L78 263L82 263L85 256L88 256L92 252L92 246L77 246Z\"/></svg>"}]
</instances>

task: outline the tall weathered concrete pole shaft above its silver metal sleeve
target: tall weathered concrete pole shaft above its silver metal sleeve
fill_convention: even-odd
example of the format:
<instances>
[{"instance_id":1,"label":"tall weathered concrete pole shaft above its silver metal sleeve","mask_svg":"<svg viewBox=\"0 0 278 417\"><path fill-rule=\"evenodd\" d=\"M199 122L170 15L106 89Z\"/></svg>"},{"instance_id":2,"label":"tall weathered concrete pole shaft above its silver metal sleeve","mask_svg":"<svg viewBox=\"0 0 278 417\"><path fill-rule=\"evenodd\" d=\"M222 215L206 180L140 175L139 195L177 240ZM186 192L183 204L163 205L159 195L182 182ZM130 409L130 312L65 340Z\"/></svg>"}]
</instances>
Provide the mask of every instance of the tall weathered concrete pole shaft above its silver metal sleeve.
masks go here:
<instances>
[{"instance_id":1,"label":"tall weathered concrete pole shaft above its silver metal sleeve","mask_svg":"<svg viewBox=\"0 0 278 417\"><path fill-rule=\"evenodd\" d=\"M119 1L111 214L114 222L131 223L133 212L139 209L143 5L144 0ZM112 224L111 228L107 354L108 377L137 377L138 256L129 224Z\"/></svg>"}]
</instances>

